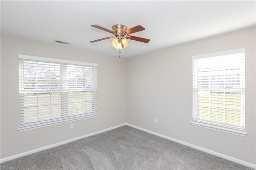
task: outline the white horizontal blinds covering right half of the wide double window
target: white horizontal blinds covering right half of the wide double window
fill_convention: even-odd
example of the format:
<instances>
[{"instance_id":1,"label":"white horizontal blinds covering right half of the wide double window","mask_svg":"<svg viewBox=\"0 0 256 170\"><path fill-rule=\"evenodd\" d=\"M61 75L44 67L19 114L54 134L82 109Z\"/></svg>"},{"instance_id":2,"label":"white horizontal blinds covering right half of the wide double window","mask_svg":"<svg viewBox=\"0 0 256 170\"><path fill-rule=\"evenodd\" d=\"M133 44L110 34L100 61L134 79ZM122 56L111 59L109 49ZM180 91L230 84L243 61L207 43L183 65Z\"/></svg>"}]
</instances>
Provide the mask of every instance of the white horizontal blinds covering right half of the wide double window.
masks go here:
<instances>
[{"instance_id":1,"label":"white horizontal blinds covering right half of the wide double window","mask_svg":"<svg viewBox=\"0 0 256 170\"><path fill-rule=\"evenodd\" d=\"M97 112L96 67L66 65L63 82L63 115Z\"/></svg>"}]
</instances>

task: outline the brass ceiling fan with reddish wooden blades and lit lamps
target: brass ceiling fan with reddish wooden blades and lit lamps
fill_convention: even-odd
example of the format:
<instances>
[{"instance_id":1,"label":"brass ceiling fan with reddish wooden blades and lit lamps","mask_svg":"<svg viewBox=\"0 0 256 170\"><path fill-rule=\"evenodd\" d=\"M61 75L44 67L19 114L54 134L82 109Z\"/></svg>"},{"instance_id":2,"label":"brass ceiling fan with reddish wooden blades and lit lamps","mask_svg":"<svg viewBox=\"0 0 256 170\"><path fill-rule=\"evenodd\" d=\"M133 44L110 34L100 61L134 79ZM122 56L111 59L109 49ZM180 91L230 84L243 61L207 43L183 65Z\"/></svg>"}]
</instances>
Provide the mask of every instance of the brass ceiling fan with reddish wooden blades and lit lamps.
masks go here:
<instances>
[{"instance_id":1,"label":"brass ceiling fan with reddish wooden blades and lit lamps","mask_svg":"<svg viewBox=\"0 0 256 170\"><path fill-rule=\"evenodd\" d=\"M112 31L108 30L106 28L103 28L101 26L98 26L98 25L91 25L91 26L94 28L98 28L100 30L109 32L109 33L113 34L114 36L94 40L94 41L91 41L90 43L94 43L94 42L98 42L98 41L102 41L102 40L106 40L106 39L110 39L110 38L115 38L114 40L112 40L110 42L110 44L113 47L115 47L116 49L122 49L122 48L128 47L128 45L130 44L130 42L128 42L126 39L135 40L135 41L144 42L144 43L150 42L149 39L129 35L129 34L132 34L135 32L145 30L145 28L140 25L132 27L130 29L127 29L127 27L125 25L116 24L116 25L112 26Z\"/></svg>"}]
</instances>

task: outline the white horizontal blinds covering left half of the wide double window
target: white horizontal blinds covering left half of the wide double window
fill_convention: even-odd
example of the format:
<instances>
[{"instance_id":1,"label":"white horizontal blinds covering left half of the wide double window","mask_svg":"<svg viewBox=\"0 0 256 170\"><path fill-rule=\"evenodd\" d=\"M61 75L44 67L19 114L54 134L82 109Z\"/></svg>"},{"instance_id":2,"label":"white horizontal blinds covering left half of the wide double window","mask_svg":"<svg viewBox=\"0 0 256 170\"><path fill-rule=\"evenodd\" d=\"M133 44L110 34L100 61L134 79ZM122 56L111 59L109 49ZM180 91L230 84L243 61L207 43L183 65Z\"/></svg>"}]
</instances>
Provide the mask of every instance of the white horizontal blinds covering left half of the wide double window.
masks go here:
<instances>
[{"instance_id":1,"label":"white horizontal blinds covering left half of the wide double window","mask_svg":"<svg viewBox=\"0 0 256 170\"><path fill-rule=\"evenodd\" d=\"M60 64L20 59L20 127L60 117Z\"/></svg>"}]
</instances>

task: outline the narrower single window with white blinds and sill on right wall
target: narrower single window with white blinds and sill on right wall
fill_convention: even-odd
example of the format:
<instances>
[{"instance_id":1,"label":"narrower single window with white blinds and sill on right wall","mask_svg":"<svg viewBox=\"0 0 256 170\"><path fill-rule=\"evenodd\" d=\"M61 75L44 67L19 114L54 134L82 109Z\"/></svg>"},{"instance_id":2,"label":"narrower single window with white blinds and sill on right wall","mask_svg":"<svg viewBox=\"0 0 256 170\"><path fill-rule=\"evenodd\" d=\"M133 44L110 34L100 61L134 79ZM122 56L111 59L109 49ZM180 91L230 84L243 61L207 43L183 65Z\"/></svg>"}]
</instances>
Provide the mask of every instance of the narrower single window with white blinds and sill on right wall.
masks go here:
<instances>
[{"instance_id":1,"label":"narrower single window with white blinds and sill on right wall","mask_svg":"<svg viewBox=\"0 0 256 170\"><path fill-rule=\"evenodd\" d=\"M246 135L244 49L193 56L192 125Z\"/></svg>"}]
</instances>

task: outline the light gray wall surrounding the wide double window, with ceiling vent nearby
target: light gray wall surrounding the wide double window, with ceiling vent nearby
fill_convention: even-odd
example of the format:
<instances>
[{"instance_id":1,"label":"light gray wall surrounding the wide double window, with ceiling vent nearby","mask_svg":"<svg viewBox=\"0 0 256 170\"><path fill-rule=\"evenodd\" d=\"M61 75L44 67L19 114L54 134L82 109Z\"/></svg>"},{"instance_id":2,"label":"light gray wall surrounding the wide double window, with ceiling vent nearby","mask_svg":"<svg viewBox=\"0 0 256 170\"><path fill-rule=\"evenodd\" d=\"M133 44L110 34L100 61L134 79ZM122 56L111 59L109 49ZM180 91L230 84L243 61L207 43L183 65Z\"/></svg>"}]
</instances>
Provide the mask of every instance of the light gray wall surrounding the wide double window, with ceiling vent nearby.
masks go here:
<instances>
[{"instance_id":1,"label":"light gray wall surrounding the wide double window, with ceiling vent nearby","mask_svg":"<svg viewBox=\"0 0 256 170\"><path fill-rule=\"evenodd\" d=\"M18 54L98 63L100 115L19 132ZM1 158L126 123L125 72L119 57L1 35Z\"/></svg>"}]
</instances>

